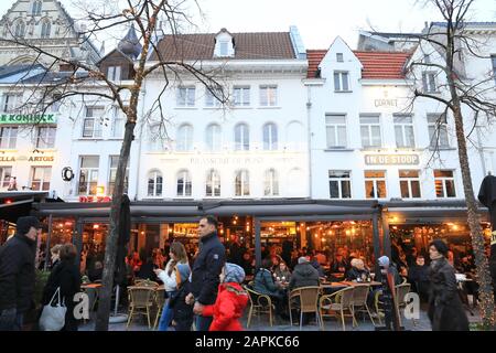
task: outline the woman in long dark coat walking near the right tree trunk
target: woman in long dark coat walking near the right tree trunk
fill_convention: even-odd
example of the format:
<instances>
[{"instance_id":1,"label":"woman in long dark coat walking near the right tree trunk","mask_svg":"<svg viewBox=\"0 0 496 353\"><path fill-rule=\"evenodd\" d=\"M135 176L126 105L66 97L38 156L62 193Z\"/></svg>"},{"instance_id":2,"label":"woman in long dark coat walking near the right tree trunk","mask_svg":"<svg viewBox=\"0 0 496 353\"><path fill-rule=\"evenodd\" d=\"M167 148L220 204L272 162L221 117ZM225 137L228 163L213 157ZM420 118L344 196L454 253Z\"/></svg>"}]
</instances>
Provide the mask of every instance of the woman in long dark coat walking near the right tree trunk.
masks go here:
<instances>
[{"instance_id":1,"label":"woman in long dark coat walking near the right tree trunk","mask_svg":"<svg viewBox=\"0 0 496 353\"><path fill-rule=\"evenodd\" d=\"M459 296L453 266L448 263L448 245L435 239L429 245L431 296L428 315L433 331L468 331L468 319Z\"/></svg>"}]
</instances>

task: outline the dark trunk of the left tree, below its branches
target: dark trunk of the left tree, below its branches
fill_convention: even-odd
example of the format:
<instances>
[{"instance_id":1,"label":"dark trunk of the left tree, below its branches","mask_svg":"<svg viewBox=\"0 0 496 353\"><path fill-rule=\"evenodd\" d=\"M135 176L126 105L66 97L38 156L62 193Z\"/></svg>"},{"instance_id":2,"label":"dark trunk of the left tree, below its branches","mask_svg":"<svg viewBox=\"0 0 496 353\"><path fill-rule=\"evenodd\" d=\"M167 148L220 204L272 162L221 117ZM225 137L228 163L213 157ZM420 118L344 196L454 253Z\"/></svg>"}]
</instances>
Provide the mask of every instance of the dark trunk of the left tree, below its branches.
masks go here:
<instances>
[{"instance_id":1,"label":"dark trunk of the left tree, below its branches","mask_svg":"<svg viewBox=\"0 0 496 353\"><path fill-rule=\"evenodd\" d=\"M133 119L132 121L136 121ZM133 140L136 122L126 124L126 132L120 149L119 163L117 167L116 182L112 193L112 202L110 208L109 220L109 234L106 238L105 245L105 260L104 260L104 274L103 274L103 287L99 292L98 312L96 319L95 331L108 331L108 320L111 310L111 297L114 289L114 275L116 269L116 256L117 256L117 240L119 238L119 214L123 194L123 183L126 178L126 168L129 161L129 154L131 152L131 143Z\"/></svg>"}]
</instances>

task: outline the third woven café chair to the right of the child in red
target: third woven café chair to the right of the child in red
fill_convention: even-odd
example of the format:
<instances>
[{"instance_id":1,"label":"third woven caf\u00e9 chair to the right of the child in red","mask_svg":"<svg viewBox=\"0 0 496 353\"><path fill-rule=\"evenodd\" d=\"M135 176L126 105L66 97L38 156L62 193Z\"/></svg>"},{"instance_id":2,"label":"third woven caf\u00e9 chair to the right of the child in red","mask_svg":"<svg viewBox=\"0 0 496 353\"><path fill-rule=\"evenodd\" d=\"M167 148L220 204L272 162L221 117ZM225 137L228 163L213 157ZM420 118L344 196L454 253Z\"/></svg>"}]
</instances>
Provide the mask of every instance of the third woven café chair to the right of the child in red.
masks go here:
<instances>
[{"instance_id":1,"label":"third woven caf\u00e9 chair to the right of the child in red","mask_svg":"<svg viewBox=\"0 0 496 353\"><path fill-rule=\"evenodd\" d=\"M343 323L343 331L346 331L345 317L351 317L355 321L355 315L353 312L353 287L343 288L332 295L322 296L319 300L319 308L321 314L321 328L324 330L324 317L339 318ZM331 311L332 313L324 313L325 311ZM349 314L345 314L345 311L349 311Z\"/></svg>"}]
</instances>

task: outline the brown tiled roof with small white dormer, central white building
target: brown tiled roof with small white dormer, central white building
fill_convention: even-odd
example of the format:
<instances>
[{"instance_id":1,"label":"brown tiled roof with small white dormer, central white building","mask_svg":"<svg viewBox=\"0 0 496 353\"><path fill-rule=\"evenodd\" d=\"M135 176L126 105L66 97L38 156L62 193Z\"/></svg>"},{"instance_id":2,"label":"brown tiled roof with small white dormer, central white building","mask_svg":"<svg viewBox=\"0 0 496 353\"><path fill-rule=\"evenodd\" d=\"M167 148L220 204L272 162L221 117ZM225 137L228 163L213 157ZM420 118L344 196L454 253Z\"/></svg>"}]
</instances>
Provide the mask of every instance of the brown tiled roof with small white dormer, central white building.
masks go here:
<instances>
[{"instance_id":1,"label":"brown tiled roof with small white dormer, central white building","mask_svg":"<svg viewBox=\"0 0 496 353\"><path fill-rule=\"evenodd\" d=\"M165 35L159 42L158 50L164 61L214 60L216 34ZM296 58L289 32L231 33L231 35L236 41L236 53L230 60ZM153 52L150 60L158 61L158 54Z\"/></svg>"}]
</instances>

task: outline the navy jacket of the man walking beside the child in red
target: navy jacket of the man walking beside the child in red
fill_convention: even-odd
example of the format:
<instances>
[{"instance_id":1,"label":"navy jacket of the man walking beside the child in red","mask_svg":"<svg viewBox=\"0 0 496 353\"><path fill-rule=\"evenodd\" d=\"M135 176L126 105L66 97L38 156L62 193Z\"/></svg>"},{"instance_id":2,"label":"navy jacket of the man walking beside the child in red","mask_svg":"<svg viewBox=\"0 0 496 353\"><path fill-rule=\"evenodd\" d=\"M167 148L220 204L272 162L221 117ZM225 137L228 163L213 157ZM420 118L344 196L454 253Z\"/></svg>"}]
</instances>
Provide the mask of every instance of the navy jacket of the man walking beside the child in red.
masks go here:
<instances>
[{"instance_id":1,"label":"navy jacket of the man walking beside the child in red","mask_svg":"<svg viewBox=\"0 0 496 353\"><path fill-rule=\"evenodd\" d=\"M226 263L226 249L216 232L200 239L198 255L193 264L191 292L201 304L215 302L219 285L218 275Z\"/></svg>"}]
</instances>

